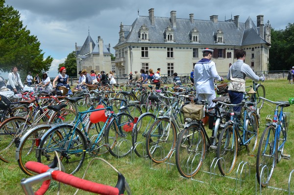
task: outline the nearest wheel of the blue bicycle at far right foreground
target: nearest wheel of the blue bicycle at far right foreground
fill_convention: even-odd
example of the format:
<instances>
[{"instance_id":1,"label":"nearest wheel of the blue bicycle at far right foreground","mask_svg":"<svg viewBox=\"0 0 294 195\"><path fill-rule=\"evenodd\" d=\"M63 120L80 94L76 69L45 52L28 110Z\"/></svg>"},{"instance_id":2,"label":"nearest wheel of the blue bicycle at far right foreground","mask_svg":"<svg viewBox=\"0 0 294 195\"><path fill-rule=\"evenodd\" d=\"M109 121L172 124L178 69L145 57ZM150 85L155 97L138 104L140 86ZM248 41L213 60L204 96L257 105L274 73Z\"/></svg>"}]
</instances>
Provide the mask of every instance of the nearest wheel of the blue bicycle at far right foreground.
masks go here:
<instances>
[{"instance_id":1,"label":"nearest wheel of the blue bicycle at far right foreground","mask_svg":"<svg viewBox=\"0 0 294 195\"><path fill-rule=\"evenodd\" d=\"M276 166L278 144L274 144L275 127L270 125L266 127L261 135L257 158L256 158L256 176L257 181L262 187L269 184L273 169ZM261 171L264 169L263 174Z\"/></svg>"}]
</instances>

